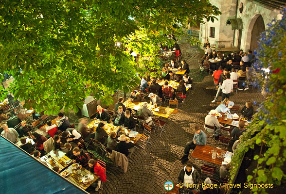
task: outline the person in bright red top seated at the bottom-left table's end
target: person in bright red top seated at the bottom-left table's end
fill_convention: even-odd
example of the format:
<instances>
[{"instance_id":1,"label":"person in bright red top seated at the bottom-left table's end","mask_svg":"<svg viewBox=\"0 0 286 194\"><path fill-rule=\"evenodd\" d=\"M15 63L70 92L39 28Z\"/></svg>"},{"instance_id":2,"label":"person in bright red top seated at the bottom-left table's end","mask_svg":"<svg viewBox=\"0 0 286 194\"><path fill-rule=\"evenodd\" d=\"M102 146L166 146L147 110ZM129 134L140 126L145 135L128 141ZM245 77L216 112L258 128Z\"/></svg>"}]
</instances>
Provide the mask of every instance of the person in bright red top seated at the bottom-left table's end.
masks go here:
<instances>
[{"instance_id":1,"label":"person in bright red top seated at the bottom-left table's end","mask_svg":"<svg viewBox=\"0 0 286 194\"><path fill-rule=\"evenodd\" d=\"M96 174L100 178L97 181L97 183L96 182L92 183L92 186L97 185L97 187L95 188L95 191L98 191L101 187L101 182L107 181L106 174L105 174L106 169L102 165L100 165L100 163L96 162L95 160L89 159L89 171L91 173Z\"/></svg>"}]
</instances>

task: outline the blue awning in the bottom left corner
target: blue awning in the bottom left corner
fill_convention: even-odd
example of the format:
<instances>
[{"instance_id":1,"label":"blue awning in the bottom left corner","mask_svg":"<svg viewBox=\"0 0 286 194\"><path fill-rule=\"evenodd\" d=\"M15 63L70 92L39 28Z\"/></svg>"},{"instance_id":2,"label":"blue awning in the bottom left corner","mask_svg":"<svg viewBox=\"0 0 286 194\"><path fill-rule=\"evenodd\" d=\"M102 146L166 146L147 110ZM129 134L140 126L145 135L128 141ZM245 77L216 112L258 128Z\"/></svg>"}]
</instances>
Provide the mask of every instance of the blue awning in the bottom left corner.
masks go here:
<instances>
[{"instance_id":1,"label":"blue awning in the bottom left corner","mask_svg":"<svg viewBox=\"0 0 286 194\"><path fill-rule=\"evenodd\" d=\"M1 194L87 194L0 136Z\"/></svg>"}]
</instances>

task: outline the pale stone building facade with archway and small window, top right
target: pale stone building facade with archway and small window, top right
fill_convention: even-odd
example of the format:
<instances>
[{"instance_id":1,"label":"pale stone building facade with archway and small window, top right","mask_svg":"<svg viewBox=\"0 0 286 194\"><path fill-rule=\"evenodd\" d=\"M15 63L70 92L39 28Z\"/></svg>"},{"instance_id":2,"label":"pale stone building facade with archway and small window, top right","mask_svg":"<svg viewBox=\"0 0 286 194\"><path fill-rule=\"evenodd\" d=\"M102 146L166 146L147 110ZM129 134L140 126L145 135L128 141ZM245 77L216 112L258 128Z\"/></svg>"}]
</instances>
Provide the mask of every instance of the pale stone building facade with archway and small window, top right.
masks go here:
<instances>
[{"instance_id":1,"label":"pale stone building facade with archway and small window, top right","mask_svg":"<svg viewBox=\"0 0 286 194\"><path fill-rule=\"evenodd\" d=\"M254 50L261 32L272 19L280 19L286 6L278 0L210 0L222 13L218 20L200 24L199 40L220 48Z\"/></svg>"}]
</instances>

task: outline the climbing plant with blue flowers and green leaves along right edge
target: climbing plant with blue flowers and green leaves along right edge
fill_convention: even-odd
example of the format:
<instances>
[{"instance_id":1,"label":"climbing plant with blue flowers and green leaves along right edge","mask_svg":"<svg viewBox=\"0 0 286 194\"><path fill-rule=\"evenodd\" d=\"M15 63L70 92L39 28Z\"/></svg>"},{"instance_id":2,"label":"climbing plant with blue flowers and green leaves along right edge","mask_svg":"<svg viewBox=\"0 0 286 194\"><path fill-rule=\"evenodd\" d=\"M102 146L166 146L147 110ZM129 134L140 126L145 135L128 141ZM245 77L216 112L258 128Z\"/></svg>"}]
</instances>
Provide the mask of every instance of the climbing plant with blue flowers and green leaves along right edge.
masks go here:
<instances>
[{"instance_id":1,"label":"climbing plant with blue flowers and green leaves along right edge","mask_svg":"<svg viewBox=\"0 0 286 194\"><path fill-rule=\"evenodd\" d=\"M259 109L234 150L230 182L244 154L255 145L259 151L253 158L257 166L247 181L279 186L286 180L286 9L281 13L282 19L273 19L268 24L254 51L257 60L250 69L253 71L250 84L268 93L268 97L261 104L254 101ZM251 190L254 194L267 191L267 188Z\"/></svg>"}]
</instances>

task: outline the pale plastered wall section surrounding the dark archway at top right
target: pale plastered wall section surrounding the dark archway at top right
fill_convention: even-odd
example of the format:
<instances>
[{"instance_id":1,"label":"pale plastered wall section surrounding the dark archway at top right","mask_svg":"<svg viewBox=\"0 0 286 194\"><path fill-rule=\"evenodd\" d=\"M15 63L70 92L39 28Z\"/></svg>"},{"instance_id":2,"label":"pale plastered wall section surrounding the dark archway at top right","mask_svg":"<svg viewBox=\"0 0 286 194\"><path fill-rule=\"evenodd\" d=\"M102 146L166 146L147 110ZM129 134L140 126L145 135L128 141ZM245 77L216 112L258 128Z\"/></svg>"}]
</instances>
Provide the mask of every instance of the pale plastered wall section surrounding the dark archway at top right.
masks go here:
<instances>
[{"instance_id":1,"label":"pale plastered wall section surrounding the dark archway at top right","mask_svg":"<svg viewBox=\"0 0 286 194\"><path fill-rule=\"evenodd\" d=\"M262 16L265 24L265 28L267 29L267 24L273 19L277 18L280 19L282 15L280 14L280 10L273 9L267 7L263 4L253 3L249 0L239 0L238 5L243 3L243 12L240 13L239 10L237 11L237 17L240 17L243 22L243 30L241 36L241 45L240 48L244 51L250 49L250 42L251 42L251 31L253 25L258 18L258 16ZM239 9L239 6L238 6ZM238 34L235 36L235 42L237 42Z\"/></svg>"}]
</instances>

